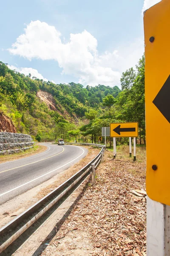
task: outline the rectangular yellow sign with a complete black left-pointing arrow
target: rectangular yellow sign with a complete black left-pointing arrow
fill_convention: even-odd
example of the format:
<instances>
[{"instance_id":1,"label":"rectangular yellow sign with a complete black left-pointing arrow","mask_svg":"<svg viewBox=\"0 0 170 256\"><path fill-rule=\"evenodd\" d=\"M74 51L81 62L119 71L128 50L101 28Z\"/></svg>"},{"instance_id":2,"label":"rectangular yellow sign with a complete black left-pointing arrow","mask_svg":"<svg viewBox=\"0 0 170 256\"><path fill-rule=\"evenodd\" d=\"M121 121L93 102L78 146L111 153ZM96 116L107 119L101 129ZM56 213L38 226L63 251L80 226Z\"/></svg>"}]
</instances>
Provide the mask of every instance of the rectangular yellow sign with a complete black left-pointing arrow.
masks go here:
<instances>
[{"instance_id":1,"label":"rectangular yellow sign with a complete black left-pointing arrow","mask_svg":"<svg viewBox=\"0 0 170 256\"><path fill-rule=\"evenodd\" d=\"M138 122L110 124L111 137L138 137Z\"/></svg>"}]
</instances>

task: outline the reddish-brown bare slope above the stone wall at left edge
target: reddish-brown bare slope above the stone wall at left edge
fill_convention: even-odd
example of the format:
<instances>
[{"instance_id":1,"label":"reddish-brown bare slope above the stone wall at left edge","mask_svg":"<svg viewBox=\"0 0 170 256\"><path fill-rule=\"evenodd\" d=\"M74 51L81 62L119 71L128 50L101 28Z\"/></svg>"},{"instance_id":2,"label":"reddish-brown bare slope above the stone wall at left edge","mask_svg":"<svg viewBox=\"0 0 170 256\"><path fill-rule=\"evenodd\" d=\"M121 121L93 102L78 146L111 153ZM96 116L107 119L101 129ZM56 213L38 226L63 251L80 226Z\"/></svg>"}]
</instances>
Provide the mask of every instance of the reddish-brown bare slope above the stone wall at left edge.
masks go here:
<instances>
[{"instance_id":1,"label":"reddish-brown bare slope above the stone wall at left edge","mask_svg":"<svg viewBox=\"0 0 170 256\"><path fill-rule=\"evenodd\" d=\"M17 132L15 126L12 123L12 120L9 117L3 115L2 112L0 112L0 131L14 132L14 133Z\"/></svg>"}]
</instances>

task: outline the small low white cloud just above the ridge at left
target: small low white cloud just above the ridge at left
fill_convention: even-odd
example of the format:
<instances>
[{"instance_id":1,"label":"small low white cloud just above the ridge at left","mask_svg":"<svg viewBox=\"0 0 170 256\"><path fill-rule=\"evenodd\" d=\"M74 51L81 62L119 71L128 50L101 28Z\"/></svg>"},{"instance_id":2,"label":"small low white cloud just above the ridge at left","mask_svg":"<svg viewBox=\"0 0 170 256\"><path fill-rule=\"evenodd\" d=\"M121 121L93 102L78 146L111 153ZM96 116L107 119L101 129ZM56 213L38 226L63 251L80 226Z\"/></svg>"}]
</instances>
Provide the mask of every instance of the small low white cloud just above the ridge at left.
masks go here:
<instances>
[{"instance_id":1,"label":"small low white cloud just above the ridge at left","mask_svg":"<svg viewBox=\"0 0 170 256\"><path fill-rule=\"evenodd\" d=\"M17 72L20 72L21 74L24 74L26 76L28 76L29 74L31 74L31 78L33 77L37 77L38 79L42 79L46 82L48 82L48 79L43 78L43 76L38 73L38 70L31 68L31 67L15 67L13 65L8 65L8 68L10 68L11 70L16 70Z\"/></svg>"}]
</instances>

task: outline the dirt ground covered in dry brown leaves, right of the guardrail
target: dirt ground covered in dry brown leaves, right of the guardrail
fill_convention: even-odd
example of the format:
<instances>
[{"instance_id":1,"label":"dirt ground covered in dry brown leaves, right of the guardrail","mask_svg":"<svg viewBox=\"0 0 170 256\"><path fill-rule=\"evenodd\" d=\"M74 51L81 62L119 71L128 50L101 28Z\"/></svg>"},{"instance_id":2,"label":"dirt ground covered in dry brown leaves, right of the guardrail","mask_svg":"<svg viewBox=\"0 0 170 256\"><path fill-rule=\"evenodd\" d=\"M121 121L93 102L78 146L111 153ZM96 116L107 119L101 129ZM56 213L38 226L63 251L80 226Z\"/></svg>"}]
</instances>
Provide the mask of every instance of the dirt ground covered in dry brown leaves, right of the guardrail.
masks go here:
<instances>
[{"instance_id":1,"label":"dirt ground covered in dry brown leaves, right of the guardrail","mask_svg":"<svg viewBox=\"0 0 170 256\"><path fill-rule=\"evenodd\" d=\"M118 147L116 160L105 152L96 184L88 184L41 256L146 256L146 202L132 193L145 190L145 148L136 159L127 146Z\"/></svg>"}]
</instances>

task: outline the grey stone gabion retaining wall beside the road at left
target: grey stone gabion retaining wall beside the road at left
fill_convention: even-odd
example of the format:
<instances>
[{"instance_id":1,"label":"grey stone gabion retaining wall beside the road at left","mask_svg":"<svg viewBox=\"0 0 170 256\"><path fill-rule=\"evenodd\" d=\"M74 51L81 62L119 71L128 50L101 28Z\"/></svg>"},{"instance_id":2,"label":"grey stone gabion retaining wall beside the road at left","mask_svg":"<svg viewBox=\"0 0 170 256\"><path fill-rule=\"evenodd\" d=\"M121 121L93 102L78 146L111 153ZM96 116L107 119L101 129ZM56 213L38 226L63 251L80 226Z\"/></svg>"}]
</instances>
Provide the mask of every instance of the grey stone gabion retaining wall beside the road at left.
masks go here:
<instances>
[{"instance_id":1,"label":"grey stone gabion retaining wall beside the road at left","mask_svg":"<svg viewBox=\"0 0 170 256\"><path fill-rule=\"evenodd\" d=\"M28 134L0 132L0 155L14 154L33 147L34 142Z\"/></svg>"}]
</instances>

